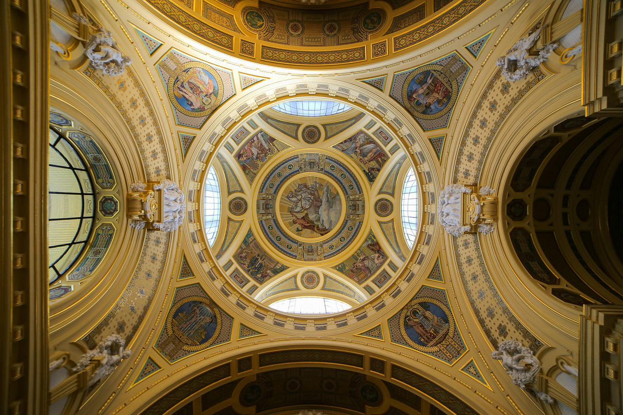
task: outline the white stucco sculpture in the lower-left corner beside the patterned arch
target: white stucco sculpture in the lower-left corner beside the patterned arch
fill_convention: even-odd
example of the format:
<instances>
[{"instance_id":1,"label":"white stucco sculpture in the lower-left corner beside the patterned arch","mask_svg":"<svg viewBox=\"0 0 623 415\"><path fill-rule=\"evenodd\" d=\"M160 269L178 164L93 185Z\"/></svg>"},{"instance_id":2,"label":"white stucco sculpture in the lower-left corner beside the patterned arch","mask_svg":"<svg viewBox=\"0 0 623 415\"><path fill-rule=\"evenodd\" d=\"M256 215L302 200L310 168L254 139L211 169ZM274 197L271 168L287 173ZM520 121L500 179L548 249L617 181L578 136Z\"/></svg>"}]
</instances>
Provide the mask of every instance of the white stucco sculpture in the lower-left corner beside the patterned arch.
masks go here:
<instances>
[{"instance_id":1,"label":"white stucco sculpture in the lower-left corner beside the patterned arch","mask_svg":"<svg viewBox=\"0 0 623 415\"><path fill-rule=\"evenodd\" d=\"M93 359L99 360L100 365L88 381L88 386L95 385L97 381L113 373L122 359L130 357L131 350L125 349L125 340L118 334L112 334L97 344L93 350L82 355L72 371L84 370Z\"/></svg>"}]
</instances>

